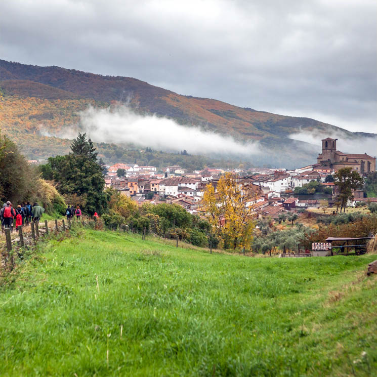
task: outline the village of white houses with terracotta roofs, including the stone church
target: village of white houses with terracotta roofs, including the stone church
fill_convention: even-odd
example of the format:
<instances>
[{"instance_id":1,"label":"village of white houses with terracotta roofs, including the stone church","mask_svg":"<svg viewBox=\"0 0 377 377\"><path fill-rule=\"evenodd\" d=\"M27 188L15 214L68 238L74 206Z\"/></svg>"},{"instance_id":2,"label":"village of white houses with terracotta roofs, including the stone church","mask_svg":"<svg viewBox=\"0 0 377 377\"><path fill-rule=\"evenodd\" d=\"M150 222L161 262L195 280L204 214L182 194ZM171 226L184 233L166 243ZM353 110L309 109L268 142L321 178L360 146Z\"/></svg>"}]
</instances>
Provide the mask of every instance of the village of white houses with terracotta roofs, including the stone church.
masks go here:
<instances>
[{"instance_id":1,"label":"village of white houses with terracotta roofs, including the stone church","mask_svg":"<svg viewBox=\"0 0 377 377\"><path fill-rule=\"evenodd\" d=\"M302 212L324 206L333 207L339 192L332 176L342 167L352 167L352 170L361 176L375 172L375 157L366 153L340 152L337 150L337 140L323 139L317 162L295 170L256 167L244 171L207 167L201 171L186 172L178 165L158 170L156 166L119 162L107 166L105 184L106 188L118 190L139 205L145 202L176 203L191 214L200 214L206 186L213 185L216 192L219 178L229 172L237 176L237 182L244 192L253 193L249 205L253 205L254 217L277 220L279 215L286 211ZM303 188L310 182L320 183L321 192L302 195L297 188ZM353 200L347 203L348 206L377 202L375 197L366 197L362 188L355 189L352 193Z\"/></svg>"}]
</instances>

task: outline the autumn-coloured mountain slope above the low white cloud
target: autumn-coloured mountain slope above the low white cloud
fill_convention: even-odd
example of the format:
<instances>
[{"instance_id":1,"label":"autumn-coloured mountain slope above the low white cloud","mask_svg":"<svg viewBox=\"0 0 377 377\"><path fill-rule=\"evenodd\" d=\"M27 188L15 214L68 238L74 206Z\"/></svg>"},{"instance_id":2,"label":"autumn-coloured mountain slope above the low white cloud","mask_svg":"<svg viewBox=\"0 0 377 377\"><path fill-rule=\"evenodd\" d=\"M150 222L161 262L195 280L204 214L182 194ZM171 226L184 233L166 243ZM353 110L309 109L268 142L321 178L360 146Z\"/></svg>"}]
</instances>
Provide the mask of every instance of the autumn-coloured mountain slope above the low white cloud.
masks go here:
<instances>
[{"instance_id":1,"label":"autumn-coloured mountain slope above the low white cloud","mask_svg":"<svg viewBox=\"0 0 377 377\"><path fill-rule=\"evenodd\" d=\"M260 141L268 156L258 163L284 163L285 160L291 163L292 157L298 165L313 162L317 154L315 149L289 139L290 134L302 130L355 136L310 118L182 96L136 78L103 76L55 66L39 67L0 60L0 87L6 101L0 124L10 136L18 133L37 135L41 128L54 135L64 133L79 122L77 113L88 105L107 107L115 102L128 103L141 113L155 113L173 118L180 124L199 125L208 131L232 135L239 141Z\"/></svg>"}]
</instances>

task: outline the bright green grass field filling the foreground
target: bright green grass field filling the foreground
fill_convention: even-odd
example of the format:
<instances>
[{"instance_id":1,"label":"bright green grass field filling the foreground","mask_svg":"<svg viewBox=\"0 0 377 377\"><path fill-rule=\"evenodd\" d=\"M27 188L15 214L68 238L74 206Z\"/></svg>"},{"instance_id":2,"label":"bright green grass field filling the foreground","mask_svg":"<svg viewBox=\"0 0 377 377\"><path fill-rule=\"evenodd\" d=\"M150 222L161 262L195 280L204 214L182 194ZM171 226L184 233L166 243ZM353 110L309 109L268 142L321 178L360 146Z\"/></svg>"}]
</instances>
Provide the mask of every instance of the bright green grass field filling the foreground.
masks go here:
<instances>
[{"instance_id":1,"label":"bright green grass field filling the foreground","mask_svg":"<svg viewBox=\"0 0 377 377\"><path fill-rule=\"evenodd\" d=\"M375 375L374 259L41 243L0 288L0 375Z\"/></svg>"}]
</instances>

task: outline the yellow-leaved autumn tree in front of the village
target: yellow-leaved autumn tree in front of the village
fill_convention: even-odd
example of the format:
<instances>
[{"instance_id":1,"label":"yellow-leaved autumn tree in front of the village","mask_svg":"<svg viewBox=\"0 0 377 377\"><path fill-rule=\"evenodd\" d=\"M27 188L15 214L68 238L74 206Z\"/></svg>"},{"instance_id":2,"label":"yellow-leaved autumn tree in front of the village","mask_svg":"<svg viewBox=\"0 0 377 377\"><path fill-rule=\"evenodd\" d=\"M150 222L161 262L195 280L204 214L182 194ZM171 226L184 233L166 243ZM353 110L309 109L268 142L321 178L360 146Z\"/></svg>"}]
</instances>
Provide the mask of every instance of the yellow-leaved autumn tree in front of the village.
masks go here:
<instances>
[{"instance_id":1,"label":"yellow-leaved autumn tree in front of the village","mask_svg":"<svg viewBox=\"0 0 377 377\"><path fill-rule=\"evenodd\" d=\"M239 177L226 173L220 177L217 192L206 186L203 210L224 248L249 248L255 221L252 218L256 193L240 183Z\"/></svg>"}]
</instances>

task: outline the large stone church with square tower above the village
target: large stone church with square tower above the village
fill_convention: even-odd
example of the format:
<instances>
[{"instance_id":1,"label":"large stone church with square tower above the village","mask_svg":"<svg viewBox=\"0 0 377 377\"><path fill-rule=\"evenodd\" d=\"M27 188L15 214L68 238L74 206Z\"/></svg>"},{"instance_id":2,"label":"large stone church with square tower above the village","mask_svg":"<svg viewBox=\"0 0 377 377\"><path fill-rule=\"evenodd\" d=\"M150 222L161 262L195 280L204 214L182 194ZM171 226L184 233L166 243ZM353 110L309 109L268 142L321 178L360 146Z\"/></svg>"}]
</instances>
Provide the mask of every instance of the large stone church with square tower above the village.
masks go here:
<instances>
[{"instance_id":1,"label":"large stone church with square tower above the village","mask_svg":"<svg viewBox=\"0 0 377 377\"><path fill-rule=\"evenodd\" d=\"M337 140L326 138L322 140L322 153L317 157L317 164L339 170L342 167L352 167L361 174L375 171L375 157L368 154L343 153L337 150Z\"/></svg>"}]
</instances>

